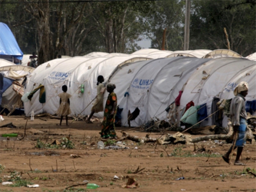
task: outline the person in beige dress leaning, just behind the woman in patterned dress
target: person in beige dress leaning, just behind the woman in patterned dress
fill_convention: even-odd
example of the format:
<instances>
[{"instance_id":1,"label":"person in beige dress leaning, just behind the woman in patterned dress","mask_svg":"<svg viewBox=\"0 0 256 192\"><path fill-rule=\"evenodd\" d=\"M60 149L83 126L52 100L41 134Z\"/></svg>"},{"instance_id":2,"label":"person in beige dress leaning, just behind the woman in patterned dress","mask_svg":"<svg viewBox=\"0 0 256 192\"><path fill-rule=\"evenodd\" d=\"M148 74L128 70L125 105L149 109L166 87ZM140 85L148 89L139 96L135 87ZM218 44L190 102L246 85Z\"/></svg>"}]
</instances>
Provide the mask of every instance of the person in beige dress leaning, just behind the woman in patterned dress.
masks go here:
<instances>
[{"instance_id":1,"label":"person in beige dress leaning, just behind the woman in patterned dress","mask_svg":"<svg viewBox=\"0 0 256 192\"><path fill-rule=\"evenodd\" d=\"M96 96L96 100L92 106L91 109L91 114L90 116L86 119L86 123L92 123L90 121L90 119L92 118L94 113L98 113L104 110L103 108L103 97L104 97L104 92L102 92L102 88L104 88L104 84L102 84L104 82L104 77L102 75L99 75L97 78L97 96Z\"/></svg>"}]
</instances>

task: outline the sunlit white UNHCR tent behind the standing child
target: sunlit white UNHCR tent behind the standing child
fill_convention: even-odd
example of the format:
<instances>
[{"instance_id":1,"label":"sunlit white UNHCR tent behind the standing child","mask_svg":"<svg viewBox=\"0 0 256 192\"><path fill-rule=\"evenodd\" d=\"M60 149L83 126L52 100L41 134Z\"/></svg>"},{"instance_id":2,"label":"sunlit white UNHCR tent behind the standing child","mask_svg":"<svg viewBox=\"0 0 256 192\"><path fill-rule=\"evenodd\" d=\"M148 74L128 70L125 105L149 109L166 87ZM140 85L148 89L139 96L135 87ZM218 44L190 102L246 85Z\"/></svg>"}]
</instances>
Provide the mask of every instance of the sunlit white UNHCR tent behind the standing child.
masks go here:
<instances>
[{"instance_id":1,"label":"sunlit white UNHCR tent behind the standing child","mask_svg":"<svg viewBox=\"0 0 256 192\"><path fill-rule=\"evenodd\" d=\"M121 63L136 60L147 60L136 56L112 56L112 57L73 57L69 59L53 60L54 64L46 62L40 65L28 81L26 91L42 84L46 90L46 103L38 101L39 92L34 94L30 102L24 104L26 116L30 115L32 109L35 114L48 112L56 113L59 106L58 94L62 92L62 85L68 86L68 93L72 95L70 108L72 115L78 115L96 96L97 76L103 75L107 80L111 72ZM60 62L59 62L60 61ZM38 77L38 74L40 76ZM34 86L34 83L35 86ZM80 92L80 85L84 84L84 93ZM92 104L82 113L90 114ZM99 114L102 116L102 114Z\"/></svg>"}]
</instances>

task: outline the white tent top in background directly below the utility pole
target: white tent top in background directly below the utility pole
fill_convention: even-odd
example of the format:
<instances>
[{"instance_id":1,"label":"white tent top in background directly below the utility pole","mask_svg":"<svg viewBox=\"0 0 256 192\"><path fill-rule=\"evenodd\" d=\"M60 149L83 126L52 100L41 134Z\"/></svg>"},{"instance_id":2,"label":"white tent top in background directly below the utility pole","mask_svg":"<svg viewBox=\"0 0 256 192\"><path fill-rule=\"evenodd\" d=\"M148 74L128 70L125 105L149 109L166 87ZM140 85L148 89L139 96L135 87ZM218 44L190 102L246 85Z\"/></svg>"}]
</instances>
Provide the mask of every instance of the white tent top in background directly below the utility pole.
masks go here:
<instances>
[{"instance_id":1,"label":"white tent top in background directly below the utility pole","mask_svg":"<svg viewBox=\"0 0 256 192\"><path fill-rule=\"evenodd\" d=\"M172 52L172 54L166 56L166 58L178 57L178 56L202 58L210 52L211 52L211 50L206 50L206 49L174 51L174 52Z\"/></svg>"}]
</instances>

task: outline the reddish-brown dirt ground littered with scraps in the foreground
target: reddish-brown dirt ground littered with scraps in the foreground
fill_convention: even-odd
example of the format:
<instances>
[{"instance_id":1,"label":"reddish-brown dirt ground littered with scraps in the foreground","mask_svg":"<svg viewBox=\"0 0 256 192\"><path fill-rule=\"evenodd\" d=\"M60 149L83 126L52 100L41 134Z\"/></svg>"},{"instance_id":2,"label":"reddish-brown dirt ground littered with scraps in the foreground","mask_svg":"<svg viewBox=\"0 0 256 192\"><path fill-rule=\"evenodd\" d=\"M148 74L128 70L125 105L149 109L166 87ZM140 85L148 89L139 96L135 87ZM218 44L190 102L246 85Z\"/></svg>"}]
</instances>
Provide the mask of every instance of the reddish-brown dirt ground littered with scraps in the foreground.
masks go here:
<instances>
[{"instance_id":1,"label":"reddish-brown dirt ground littered with scraps in the foreground","mask_svg":"<svg viewBox=\"0 0 256 192\"><path fill-rule=\"evenodd\" d=\"M155 146L154 143L140 144L124 140L129 149L106 150L97 148L101 129L99 122L86 124L75 121L70 126L57 126L57 119L35 119L34 122L28 120L26 136L23 138L27 121L24 116L4 116L4 119L1 124L12 122L16 128L0 128L1 136L18 133L18 138L7 141L0 137L0 164L5 166L0 177L7 181L10 180L7 177L11 172L21 172L22 180L39 184L39 187L0 184L0 191L64 191L66 187L82 184L84 180L98 184L100 188L86 189L86 185L81 185L66 191L256 191L256 178L245 171L246 168L256 169L256 148L252 144L247 144L242 153L242 161L246 166L228 166L221 155L231 144L199 142L196 149L203 147L206 152L194 152L194 145L166 145L164 148ZM138 129L129 129L116 128L119 137L122 135L121 130L134 136L147 134ZM61 141L69 135L70 141L75 144L74 149L35 147L38 140L51 144L54 140ZM160 135L161 133L150 134L153 138ZM83 144L84 141L86 144ZM80 157L72 158L71 154ZM232 156L232 162L234 159L235 156ZM134 173L138 166L144 169ZM114 176L119 179L114 180ZM176 180L182 176L184 180ZM138 188L122 188L128 177L137 180Z\"/></svg>"}]
</instances>

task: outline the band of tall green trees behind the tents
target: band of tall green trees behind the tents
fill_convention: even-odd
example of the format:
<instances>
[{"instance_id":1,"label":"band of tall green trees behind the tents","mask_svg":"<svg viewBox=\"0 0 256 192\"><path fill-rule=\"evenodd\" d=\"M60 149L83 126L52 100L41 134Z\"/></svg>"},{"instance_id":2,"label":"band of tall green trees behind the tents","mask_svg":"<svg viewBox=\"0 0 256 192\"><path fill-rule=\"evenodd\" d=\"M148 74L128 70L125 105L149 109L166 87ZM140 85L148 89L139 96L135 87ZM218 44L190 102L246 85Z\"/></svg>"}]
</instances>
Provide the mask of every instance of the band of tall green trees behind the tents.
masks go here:
<instances>
[{"instance_id":1,"label":"band of tall green trees behind the tents","mask_svg":"<svg viewBox=\"0 0 256 192\"><path fill-rule=\"evenodd\" d=\"M9 2L9 3L8 3ZM89 52L134 52L147 38L160 49L182 50L184 0L118 2L50 2L0 0L6 23L25 54L36 52L41 64L61 55ZM256 52L254 0L191 1L190 50L230 49L242 56Z\"/></svg>"}]
</instances>

